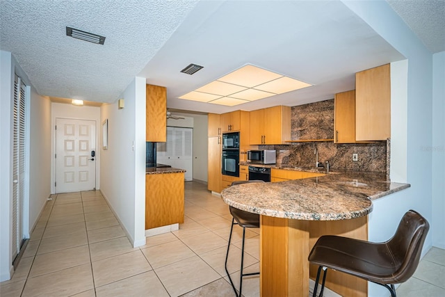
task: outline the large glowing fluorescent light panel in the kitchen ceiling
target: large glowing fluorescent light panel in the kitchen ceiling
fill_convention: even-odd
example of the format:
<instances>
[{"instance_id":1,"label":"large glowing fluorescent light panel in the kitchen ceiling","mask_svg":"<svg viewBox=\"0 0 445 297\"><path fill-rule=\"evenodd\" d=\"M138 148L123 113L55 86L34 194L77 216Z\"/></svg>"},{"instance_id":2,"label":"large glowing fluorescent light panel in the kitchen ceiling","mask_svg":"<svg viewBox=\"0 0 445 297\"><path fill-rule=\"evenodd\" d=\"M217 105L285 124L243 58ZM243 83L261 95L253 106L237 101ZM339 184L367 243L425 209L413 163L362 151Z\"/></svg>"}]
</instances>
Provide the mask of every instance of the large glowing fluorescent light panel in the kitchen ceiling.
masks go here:
<instances>
[{"instance_id":1,"label":"large glowing fluorescent light panel in the kitchen ceiling","mask_svg":"<svg viewBox=\"0 0 445 297\"><path fill-rule=\"evenodd\" d=\"M245 65L179 99L235 106L312 86L262 68Z\"/></svg>"}]
</instances>

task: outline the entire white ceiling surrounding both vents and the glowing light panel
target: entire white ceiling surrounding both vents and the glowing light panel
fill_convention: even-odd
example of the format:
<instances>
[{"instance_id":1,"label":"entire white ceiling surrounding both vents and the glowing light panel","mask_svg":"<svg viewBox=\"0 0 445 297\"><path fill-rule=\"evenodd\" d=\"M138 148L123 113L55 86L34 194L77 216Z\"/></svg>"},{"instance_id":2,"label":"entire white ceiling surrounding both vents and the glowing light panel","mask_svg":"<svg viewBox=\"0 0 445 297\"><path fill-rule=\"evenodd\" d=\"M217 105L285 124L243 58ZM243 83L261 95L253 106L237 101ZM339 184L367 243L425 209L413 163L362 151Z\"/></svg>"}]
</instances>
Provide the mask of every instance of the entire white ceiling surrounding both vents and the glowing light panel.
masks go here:
<instances>
[{"instance_id":1,"label":"entire white ceiling surrounding both vents and the glowing light panel","mask_svg":"<svg viewBox=\"0 0 445 297\"><path fill-rule=\"evenodd\" d=\"M0 1L0 49L49 97L115 102L140 76L167 87L170 109L295 106L331 99L355 87L355 72L404 58L341 1ZM403 15L412 3L394 2L413 31L409 20L422 21L417 34L435 51L423 36L444 33L443 20L428 17L440 16L443 1L423 6L427 17L415 8ZM65 26L104 35L105 44L67 37ZM179 73L189 63L204 69ZM314 86L234 108L177 99L248 63Z\"/></svg>"}]
</instances>

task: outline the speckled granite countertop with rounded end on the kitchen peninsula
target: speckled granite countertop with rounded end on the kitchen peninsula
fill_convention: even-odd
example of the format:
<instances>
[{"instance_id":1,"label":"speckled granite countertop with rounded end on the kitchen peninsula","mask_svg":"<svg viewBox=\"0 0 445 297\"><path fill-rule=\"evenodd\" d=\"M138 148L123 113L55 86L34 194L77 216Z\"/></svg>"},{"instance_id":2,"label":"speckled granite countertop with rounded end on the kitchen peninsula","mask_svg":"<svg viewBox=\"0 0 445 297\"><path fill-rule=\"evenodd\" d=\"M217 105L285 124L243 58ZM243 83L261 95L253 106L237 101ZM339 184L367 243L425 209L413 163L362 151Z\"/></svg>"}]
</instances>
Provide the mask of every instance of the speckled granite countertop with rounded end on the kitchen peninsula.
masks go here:
<instances>
[{"instance_id":1,"label":"speckled granite countertop with rounded end on the kitchen peninsula","mask_svg":"<svg viewBox=\"0 0 445 297\"><path fill-rule=\"evenodd\" d=\"M343 220L366 216L372 200L410 184L388 182L380 172L336 174L274 183L239 184L221 192L224 202L254 214L298 220Z\"/></svg>"}]
</instances>

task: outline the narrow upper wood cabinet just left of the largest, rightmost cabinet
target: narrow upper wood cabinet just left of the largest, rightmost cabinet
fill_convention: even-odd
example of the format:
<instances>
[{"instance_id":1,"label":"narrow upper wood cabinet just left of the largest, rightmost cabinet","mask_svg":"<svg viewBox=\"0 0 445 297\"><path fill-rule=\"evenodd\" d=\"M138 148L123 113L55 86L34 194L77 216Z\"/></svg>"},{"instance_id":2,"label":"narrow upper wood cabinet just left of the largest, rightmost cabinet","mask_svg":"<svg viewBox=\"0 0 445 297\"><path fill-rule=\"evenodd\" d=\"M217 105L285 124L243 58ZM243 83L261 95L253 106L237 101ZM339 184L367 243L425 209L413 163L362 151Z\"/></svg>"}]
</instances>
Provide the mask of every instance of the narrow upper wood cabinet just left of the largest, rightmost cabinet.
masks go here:
<instances>
[{"instance_id":1,"label":"narrow upper wood cabinet just left of the largest, rightmost cabinet","mask_svg":"<svg viewBox=\"0 0 445 297\"><path fill-rule=\"evenodd\" d=\"M355 90L335 94L334 143L355 143Z\"/></svg>"}]
</instances>

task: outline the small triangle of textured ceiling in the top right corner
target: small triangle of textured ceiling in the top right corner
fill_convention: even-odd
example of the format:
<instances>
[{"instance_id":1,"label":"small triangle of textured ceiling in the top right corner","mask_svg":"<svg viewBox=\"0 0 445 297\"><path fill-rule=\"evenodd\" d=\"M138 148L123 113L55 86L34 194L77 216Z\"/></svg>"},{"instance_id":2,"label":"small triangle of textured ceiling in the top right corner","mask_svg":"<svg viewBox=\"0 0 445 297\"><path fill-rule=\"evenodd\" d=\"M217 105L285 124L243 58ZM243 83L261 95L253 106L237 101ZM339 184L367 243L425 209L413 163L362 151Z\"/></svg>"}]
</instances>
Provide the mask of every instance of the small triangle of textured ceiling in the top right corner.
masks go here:
<instances>
[{"instance_id":1,"label":"small triangle of textured ceiling in the top right corner","mask_svg":"<svg viewBox=\"0 0 445 297\"><path fill-rule=\"evenodd\" d=\"M445 51L445 0L388 0L432 53Z\"/></svg>"}]
</instances>

